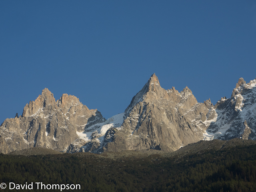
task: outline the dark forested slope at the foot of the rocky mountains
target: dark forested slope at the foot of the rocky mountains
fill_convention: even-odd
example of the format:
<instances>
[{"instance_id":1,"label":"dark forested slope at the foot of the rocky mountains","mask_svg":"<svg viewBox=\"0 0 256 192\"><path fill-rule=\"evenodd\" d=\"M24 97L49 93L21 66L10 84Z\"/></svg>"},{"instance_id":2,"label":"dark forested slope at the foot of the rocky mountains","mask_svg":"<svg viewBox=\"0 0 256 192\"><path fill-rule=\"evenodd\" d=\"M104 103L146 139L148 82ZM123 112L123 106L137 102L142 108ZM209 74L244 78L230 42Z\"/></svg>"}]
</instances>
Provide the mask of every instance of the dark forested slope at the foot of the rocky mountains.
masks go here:
<instances>
[{"instance_id":1,"label":"dark forested slope at the foot of the rocky mountains","mask_svg":"<svg viewBox=\"0 0 256 192\"><path fill-rule=\"evenodd\" d=\"M197 144L197 146L199 146ZM191 146L190 146L191 148ZM226 145L182 154L0 154L0 183L80 184L87 192L256 191L256 145ZM9 190L2 191L60 191Z\"/></svg>"}]
</instances>

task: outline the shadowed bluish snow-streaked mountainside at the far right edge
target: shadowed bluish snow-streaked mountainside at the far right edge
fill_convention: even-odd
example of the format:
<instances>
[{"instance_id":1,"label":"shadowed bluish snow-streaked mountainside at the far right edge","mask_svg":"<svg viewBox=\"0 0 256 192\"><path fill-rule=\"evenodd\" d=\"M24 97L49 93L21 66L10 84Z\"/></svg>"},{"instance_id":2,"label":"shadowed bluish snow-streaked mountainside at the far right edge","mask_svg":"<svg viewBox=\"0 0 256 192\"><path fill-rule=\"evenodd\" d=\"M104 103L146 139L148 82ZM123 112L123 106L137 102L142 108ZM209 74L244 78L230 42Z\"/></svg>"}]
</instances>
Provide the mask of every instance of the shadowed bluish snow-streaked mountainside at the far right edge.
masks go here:
<instances>
[{"instance_id":1,"label":"shadowed bluish snow-streaked mountainside at the far right edge","mask_svg":"<svg viewBox=\"0 0 256 192\"><path fill-rule=\"evenodd\" d=\"M256 139L256 79L246 84L238 80L231 98L222 98L210 109L215 113L205 140Z\"/></svg>"}]
</instances>

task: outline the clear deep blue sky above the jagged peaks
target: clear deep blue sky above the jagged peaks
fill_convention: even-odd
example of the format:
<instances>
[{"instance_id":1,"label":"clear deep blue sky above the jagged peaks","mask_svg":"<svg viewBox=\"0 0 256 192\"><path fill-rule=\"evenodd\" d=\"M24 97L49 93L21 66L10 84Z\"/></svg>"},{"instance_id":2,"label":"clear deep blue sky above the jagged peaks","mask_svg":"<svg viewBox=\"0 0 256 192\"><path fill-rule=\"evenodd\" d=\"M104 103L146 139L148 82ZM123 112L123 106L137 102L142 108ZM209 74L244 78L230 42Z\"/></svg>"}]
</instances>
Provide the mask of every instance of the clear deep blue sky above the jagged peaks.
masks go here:
<instances>
[{"instance_id":1,"label":"clear deep blue sky above the jagged peaks","mask_svg":"<svg viewBox=\"0 0 256 192\"><path fill-rule=\"evenodd\" d=\"M256 2L1 0L0 124L48 88L105 118L156 73L198 102L256 77Z\"/></svg>"}]
</instances>

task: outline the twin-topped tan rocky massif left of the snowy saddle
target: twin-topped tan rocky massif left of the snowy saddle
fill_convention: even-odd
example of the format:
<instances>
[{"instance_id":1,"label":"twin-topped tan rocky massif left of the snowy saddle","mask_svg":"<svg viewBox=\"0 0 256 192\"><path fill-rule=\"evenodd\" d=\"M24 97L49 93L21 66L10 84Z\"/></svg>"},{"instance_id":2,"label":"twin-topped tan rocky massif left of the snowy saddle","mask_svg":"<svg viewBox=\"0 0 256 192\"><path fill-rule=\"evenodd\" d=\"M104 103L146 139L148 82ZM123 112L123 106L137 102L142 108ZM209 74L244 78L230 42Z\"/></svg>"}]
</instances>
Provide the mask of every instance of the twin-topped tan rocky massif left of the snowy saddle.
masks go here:
<instances>
[{"instance_id":1,"label":"twin-topped tan rocky massif left of the snowy saddle","mask_svg":"<svg viewBox=\"0 0 256 192\"><path fill-rule=\"evenodd\" d=\"M89 110L75 96L63 94L55 101L45 88L26 104L22 116L4 120L0 126L0 152L32 147L64 151L78 139L76 132L88 124L106 121L97 110Z\"/></svg>"}]
</instances>

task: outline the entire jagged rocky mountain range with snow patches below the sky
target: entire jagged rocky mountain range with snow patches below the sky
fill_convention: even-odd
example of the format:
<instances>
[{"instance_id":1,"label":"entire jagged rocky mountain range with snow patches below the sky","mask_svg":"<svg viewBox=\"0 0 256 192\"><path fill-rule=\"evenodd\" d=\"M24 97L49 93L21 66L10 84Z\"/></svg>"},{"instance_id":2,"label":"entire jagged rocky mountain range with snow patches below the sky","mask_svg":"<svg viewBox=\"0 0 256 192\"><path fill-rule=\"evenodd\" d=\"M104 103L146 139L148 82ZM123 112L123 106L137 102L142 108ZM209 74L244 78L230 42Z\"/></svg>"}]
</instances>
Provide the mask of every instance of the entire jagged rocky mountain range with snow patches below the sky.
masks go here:
<instances>
[{"instance_id":1,"label":"entire jagged rocky mountain range with snow patches below the sky","mask_svg":"<svg viewBox=\"0 0 256 192\"><path fill-rule=\"evenodd\" d=\"M41 147L60 152L173 152L200 140L256 140L256 79L238 80L230 98L215 105L197 102L186 87L165 90L153 74L126 110L105 119L78 98L63 94L55 100L45 88L22 115L0 126L0 152Z\"/></svg>"}]
</instances>

